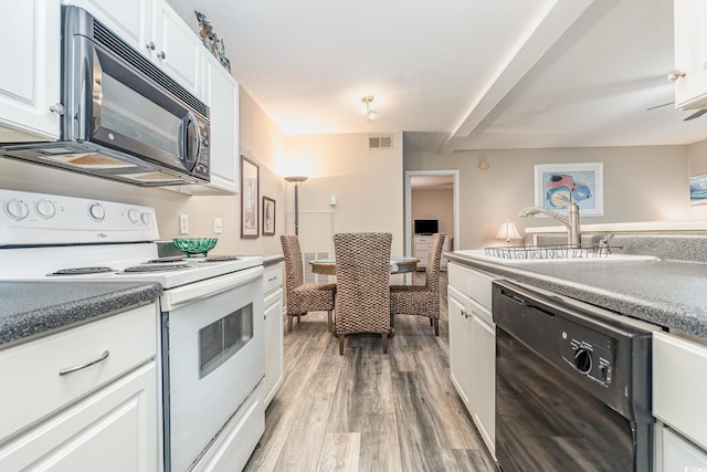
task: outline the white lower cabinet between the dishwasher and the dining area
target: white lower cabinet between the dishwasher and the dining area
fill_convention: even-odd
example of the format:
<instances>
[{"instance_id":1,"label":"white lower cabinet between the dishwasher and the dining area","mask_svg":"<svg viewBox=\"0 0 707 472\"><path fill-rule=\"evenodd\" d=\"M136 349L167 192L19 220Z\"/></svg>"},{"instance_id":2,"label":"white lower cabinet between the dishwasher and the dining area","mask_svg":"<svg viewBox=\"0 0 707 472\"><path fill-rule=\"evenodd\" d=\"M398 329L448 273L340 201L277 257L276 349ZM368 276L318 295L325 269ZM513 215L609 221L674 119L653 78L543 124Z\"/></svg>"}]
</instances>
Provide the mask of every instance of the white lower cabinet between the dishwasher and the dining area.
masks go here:
<instances>
[{"instance_id":1,"label":"white lower cabinet between the dishwasher and the dining area","mask_svg":"<svg viewBox=\"0 0 707 472\"><path fill-rule=\"evenodd\" d=\"M492 455L496 434L496 326L489 275L449 265L450 366L452 382Z\"/></svg>"}]
</instances>

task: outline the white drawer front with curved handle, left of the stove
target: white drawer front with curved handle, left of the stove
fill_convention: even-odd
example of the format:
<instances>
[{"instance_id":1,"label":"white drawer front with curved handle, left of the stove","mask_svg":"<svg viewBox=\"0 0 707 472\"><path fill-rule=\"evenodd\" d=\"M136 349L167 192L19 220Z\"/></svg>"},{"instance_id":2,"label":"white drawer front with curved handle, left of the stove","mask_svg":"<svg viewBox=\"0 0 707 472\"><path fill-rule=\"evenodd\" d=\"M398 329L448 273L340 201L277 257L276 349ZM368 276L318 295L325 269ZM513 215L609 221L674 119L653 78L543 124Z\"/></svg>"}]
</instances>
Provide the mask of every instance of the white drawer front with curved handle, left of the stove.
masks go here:
<instances>
[{"instance_id":1,"label":"white drawer front with curved handle, left of the stove","mask_svg":"<svg viewBox=\"0 0 707 472\"><path fill-rule=\"evenodd\" d=\"M96 360L91 367L60 371ZM155 304L0 353L0 441L155 357Z\"/></svg>"}]
</instances>

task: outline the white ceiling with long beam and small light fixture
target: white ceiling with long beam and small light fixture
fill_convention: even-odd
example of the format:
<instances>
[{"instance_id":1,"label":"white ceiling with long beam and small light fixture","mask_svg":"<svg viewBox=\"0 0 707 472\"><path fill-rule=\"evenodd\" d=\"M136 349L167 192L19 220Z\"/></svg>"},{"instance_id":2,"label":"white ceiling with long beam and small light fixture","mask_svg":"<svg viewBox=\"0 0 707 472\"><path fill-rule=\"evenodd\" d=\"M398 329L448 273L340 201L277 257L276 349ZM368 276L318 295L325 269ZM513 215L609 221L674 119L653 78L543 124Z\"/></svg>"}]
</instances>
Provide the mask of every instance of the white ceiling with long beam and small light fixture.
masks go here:
<instances>
[{"instance_id":1,"label":"white ceiling with long beam and small light fixture","mask_svg":"<svg viewBox=\"0 0 707 472\"><path fill-rule=\"evenodd\" d=\"M689 144L672 0L168 0L203 12L287 135L404 133L405 150ZM373 95L377 119L359 114Z\"/></svg>"}]
</instances>

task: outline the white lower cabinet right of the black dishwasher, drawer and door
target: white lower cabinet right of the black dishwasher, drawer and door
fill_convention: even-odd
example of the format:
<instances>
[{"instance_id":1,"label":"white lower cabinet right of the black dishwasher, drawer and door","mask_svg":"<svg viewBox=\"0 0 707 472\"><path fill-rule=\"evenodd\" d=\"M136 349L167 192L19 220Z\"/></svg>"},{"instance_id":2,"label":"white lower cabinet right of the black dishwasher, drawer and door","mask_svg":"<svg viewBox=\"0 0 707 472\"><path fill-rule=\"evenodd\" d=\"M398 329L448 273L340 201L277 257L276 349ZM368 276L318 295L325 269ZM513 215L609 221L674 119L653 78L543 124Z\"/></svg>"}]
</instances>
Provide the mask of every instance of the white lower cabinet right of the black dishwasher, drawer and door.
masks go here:
<instances>
[{"instance_id":1,"label":"white lower cabinet right of the black dishwasher, drawer and door","mask_svg":"<svg viewBox=\"0 0 707 472\"><path fill-rule=\"evenodd\" d=\"M653 334L656 471L707 470L707 346Z\"/></svg>"}]
</instances>

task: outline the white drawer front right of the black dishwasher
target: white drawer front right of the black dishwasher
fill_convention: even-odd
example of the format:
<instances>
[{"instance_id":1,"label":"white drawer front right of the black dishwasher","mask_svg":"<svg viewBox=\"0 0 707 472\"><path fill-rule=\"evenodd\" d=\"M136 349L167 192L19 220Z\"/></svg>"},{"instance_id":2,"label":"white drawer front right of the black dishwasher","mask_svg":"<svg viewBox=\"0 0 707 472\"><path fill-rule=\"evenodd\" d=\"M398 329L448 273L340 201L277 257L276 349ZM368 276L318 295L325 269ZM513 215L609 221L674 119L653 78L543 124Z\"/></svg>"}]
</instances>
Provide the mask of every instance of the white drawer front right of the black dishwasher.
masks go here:
<instances>
[{"instance_id":1,"label":"white drawer front right of the black dishwasher","mask_svg":"<svg viewBox=\"0 0 707 472\"><path fill-rule=\"evenodd\" d=\"M707 347L653 334L653 415L707 449Z\"/></svg>"}]
</instances>

